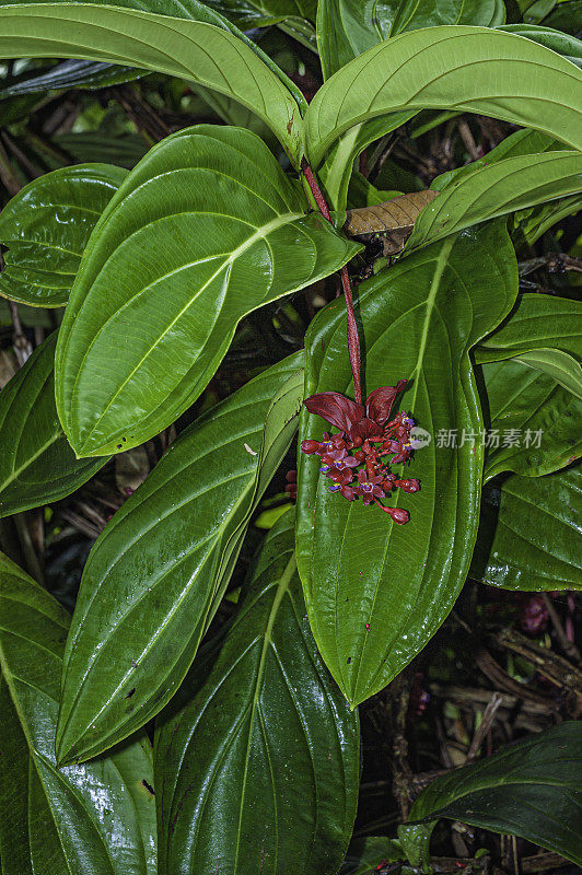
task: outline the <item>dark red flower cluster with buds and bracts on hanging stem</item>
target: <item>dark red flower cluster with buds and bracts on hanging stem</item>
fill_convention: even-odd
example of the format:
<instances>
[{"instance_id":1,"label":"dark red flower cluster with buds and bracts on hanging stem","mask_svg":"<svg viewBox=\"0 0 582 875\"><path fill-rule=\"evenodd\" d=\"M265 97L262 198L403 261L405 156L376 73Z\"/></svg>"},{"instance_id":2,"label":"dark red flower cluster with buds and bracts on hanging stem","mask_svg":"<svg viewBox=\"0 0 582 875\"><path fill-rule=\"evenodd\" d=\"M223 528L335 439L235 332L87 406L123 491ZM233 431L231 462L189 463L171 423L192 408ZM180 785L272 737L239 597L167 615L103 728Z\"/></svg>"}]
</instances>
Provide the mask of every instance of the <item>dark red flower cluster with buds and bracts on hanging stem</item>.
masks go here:
<instances>
[{"instance_id":1,"label":"dark red flower cluster with buds and bracts on hanging stem","mask_svg":"<svg viewBox=\"0 0 582 875\"><path fill-rule=\"evenodd\" d=\"M333 481L328 487L330 492L339 492L348 501L361 498L364 504L377 504L399 525L408 523L408 511L387 508L380 499L393 489L418 492L420 488L418 480L399 480L383 462L392 456L388 465L397 465L407 462L412 452L414 419L405 412L389 419L396 396L405 386L406 380L399 380L396 386L381 386L368 396L365 405L337 392L311 395L303 401L310 413L322 417L339 433L330 436L324 432L323 441L301 443L303 453L322 459L319 470Z\"/></svg>"}]
</instances>

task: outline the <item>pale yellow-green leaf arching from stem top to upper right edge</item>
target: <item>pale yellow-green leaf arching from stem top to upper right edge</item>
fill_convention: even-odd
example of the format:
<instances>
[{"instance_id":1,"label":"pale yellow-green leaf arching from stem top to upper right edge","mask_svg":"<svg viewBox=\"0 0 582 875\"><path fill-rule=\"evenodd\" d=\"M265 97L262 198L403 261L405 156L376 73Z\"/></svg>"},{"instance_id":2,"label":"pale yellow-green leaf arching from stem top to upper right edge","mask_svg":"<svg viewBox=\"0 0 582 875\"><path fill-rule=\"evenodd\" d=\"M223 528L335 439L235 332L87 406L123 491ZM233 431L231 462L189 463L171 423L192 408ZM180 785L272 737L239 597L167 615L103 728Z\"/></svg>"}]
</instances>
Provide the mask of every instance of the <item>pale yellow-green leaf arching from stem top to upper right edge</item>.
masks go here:
<instances>
[{"instance_id":1,"label":"pale yellow-green leaf arching from stem top to upper right edge","mask_svg":"<svg viewBox=\"0 0 582 875\"><path fill-rule=\"evenodd\" d=\"M559 103L556 94L562 95ZM307 150L317 166L360 121L453 107L535 128L581 149L581 105L582 73L544 46L487 27L429 27L374 46L327 80L305 116Z\"/></svg>"}]
</instances>

